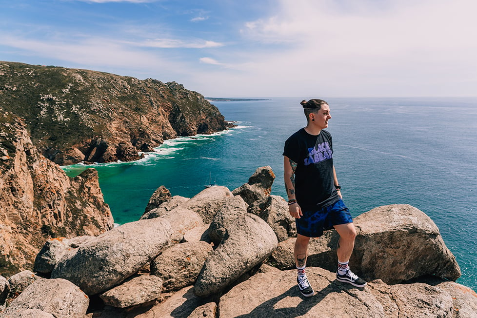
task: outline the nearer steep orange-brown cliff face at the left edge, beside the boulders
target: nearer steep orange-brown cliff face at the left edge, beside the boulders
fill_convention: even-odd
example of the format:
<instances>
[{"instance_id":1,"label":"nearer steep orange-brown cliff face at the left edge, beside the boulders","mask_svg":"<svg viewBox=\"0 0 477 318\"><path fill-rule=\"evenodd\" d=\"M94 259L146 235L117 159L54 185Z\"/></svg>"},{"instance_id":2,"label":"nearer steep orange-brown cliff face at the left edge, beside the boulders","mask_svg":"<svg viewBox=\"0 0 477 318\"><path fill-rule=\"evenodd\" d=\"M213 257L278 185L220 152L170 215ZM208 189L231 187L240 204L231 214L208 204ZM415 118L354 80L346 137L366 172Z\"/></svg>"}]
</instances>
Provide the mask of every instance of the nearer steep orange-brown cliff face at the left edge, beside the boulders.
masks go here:
<instances>
[{"instance_id":1,"label":"nearer steep orange-brown cliff face at the left edge, beside the boulders","mask_svg":"<svg viewBox=\"0 0 477 318\"><path fill-rule=\"evenodd\" d=\"M0 274L33 268L46 239L112 227L96 170L69 178L38 152L23 120L0 109Z\"/></svg>"}]
</instances>

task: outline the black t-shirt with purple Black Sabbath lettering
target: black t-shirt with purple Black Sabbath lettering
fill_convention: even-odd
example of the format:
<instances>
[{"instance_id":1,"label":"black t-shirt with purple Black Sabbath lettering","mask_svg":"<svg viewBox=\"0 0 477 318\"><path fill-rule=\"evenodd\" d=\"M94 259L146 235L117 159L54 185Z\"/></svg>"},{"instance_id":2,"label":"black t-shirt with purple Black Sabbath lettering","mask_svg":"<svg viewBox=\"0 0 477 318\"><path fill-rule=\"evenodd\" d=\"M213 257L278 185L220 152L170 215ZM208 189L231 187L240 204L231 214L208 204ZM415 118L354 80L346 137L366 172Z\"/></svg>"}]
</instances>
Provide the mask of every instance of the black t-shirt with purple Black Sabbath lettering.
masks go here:
<instances>
[{"instance_id":1,"label":"black t-shirt with purple Black Sabbath lettering","mask_svg":"<svg viewBox=\"0 0 477 318\"><path fill-rule=\"evenodd\" d=\"M295 191L303 211L317 210L338 201L333 176L333 140L321 130L318 136L304 128L285 141L283 156L297 163Z\"/></svg>"}]
</instances>

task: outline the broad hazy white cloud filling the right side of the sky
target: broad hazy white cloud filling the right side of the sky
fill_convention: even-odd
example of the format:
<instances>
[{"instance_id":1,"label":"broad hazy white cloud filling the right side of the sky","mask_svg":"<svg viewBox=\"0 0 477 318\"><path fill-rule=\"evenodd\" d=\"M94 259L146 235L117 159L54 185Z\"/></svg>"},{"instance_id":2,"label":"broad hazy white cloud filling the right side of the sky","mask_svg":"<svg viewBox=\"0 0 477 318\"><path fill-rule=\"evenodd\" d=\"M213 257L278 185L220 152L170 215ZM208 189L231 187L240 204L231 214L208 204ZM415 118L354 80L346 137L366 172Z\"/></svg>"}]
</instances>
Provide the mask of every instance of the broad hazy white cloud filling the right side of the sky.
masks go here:
<instances>
[{"instance_id":1,"label":"broad hazy white cloud filling the right side of the sky","mask_svg":"<svg viewBox=\"0 0 477 318\"><path fill-rule=\"evenodd\" d=\"M354 7L282 0L271 16L245 23L245 40L277 49L250 54L250 73L228 79L268 96L476 95L477 2L345 2Z\"/></svg>"}]
</instances>

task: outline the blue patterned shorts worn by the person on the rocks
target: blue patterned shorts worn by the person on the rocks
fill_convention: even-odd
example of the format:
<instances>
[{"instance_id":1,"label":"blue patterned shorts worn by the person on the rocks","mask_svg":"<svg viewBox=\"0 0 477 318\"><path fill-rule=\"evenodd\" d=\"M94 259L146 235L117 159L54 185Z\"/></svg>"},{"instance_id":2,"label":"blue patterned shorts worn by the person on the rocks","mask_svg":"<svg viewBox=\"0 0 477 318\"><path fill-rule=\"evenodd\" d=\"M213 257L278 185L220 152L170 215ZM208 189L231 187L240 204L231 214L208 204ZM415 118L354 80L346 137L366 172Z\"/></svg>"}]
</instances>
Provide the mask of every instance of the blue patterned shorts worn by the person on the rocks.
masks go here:
<instances>
[{"instance_id":1,"label":"blue patterned shorts worn by the person on the rocks","mask_svg":"<svg viewBox=\"0 0 477 318\"><path fill-rule=\"evenodd\" d=\"M295 219L297 232L308 238L318 238L324 230L330 230L333 225L352 223L350 211L342 199L325 206L318 211L301 211L303 216Z\"/></svg>"}]
</instances>

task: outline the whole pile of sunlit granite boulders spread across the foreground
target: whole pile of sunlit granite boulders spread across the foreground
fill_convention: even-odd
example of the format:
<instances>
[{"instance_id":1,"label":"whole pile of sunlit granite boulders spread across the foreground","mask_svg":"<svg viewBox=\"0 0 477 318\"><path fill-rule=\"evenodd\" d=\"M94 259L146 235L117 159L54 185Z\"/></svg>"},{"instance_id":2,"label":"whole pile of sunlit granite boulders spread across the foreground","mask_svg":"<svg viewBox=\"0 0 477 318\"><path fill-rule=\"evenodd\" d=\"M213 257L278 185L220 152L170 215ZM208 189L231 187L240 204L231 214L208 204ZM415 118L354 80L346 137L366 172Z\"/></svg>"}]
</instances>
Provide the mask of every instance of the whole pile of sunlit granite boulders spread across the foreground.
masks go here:
<instances>
[{"instance_id":1,"label":"whole pile of sunlit granite boulders spread across the foreground","mask_svg":"<svg viewBox=\"0 0 477 318\"><path fill-rule=\"evenodd\" d=\"M361 289L336 280L336 232L313 239L307 276L317 294L305 299L296 270L283 268L293 266L286 264L293 263L295 239L277 245L279 233L293 233L283 226L289 224L281 211L283 200L258 199L247 212L240 196L214 188L161 216L126 223L99 237L48 241L44 253L56 256L41 259L51 266L63 255L52 277L58 270L90 296L100 293L92 296L96 301L87 317L476 317L477 294L448 280L459 275L455 258L432 220L416 208L383 206L355 218L358 237L351 262L353 271L368 281ZM211 231L220 238L217 244L208 243ZM372 265L376 259L388 264L387 271ZM30 286L17 299L24 299ZM8 293L8 288L0 277L0 291ZM0 298L0 310L2 302ZM17 300L6 303L12 306ZM5 313L13 310L10 306ZM40 305L32 308L23 300L16 308L23 315L19 317L70 317L50 314L53 310Z\"/></svg>"}]
</instances>

